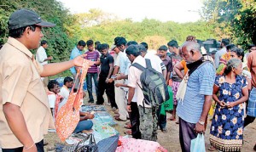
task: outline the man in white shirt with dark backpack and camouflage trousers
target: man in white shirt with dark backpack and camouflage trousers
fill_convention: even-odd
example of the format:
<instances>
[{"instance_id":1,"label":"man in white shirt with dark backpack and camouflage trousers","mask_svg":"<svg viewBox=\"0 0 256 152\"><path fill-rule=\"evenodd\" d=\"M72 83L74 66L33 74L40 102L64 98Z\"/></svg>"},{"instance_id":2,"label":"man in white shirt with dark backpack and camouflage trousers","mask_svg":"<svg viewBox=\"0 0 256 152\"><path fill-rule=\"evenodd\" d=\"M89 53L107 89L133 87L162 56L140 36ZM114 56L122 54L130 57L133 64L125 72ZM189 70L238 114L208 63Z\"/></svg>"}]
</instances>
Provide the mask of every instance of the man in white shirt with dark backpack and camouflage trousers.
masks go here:
<instances>
[{"instance_id":1,"label":"man in white shirt with dark backpack and camouflage trousers","mask_svg":"<svg viewBox=\"0 0 256 152\"><path fill-rule=\"evenodd\" d=\"M137 106L139 110L140 116L140 131L142 133L142 138L146 140L156 141L157 140L157 115L156 111L158 110L159 104L168 99L166 97L166 83L162 74L155 69L161 69L159 64L150 64L149 59L144 59L141 56L140 50L136 45L131 45L126 48L125 51L128 59L131 61L131 66L129 68L128 74L128 86L129 86L129 94L128 94L128 102L127 102L127 110L131 111L131 100L136 95L137 98ZM148 63L146 63L148 62ZM151 67L152 66L152 67ZM146 69L147 68L147 69ZM150 71L151 73L150 73ZM146 72L146 73L145 73ZM145 74L147 72L150 75L145 79ZM160 81L160 92L153 93L152 90L146 88L145 85L148 82L155 82L151 80L152 73L154 73L155 77L160 77L156 81ZM148 79L149 78L149 79ZM148 85L150 86L150 85ZM147 95L148 94L148 95ZM158 94L164 94L161 96L162 99L158 99ZM168 94L168 93L167 93ZM157 98L155 98L157 97ZM155 98L155 99L152 99ZM132 111L131 111L132 112Z\"/></svg>"}]
</instances>

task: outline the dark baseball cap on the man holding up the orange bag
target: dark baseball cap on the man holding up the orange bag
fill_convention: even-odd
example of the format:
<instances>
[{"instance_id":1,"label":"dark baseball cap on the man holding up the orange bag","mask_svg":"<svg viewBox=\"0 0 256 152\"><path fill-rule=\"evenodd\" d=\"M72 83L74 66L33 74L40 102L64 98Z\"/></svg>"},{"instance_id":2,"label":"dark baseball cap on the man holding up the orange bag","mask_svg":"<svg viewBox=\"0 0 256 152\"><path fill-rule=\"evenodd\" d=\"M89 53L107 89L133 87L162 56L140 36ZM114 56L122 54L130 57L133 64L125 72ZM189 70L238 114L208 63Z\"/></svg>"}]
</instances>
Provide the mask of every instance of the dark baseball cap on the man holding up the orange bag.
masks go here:
<instances>
[{"instance_id":1,"label":"dark baseball cap on the man holding up the orange bag","mask_svg":"<svg viewBox=\"0 0 256 152\"><path fill-rule=\"evenodd\" d=\"M8 21L9 30L15 30L27 25L38 25L42 27L55 26L53 23L42 20L36 12L25 8L16 10L13 14L10 15Z\"/></svg>"}]
</instances>

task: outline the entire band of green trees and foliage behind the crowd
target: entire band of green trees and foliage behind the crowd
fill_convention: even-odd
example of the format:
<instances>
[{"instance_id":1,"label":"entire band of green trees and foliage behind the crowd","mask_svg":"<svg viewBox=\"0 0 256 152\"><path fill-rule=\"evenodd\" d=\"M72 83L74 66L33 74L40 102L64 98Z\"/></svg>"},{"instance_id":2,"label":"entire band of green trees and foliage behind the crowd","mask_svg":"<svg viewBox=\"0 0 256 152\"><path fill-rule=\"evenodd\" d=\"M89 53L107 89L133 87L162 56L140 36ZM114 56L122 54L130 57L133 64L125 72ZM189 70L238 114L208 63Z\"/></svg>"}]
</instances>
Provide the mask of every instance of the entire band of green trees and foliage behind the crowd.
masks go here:
<instances>
[{"instance_id":1,"label":"entire band of green trees and foliage behind the crowd","mask_svg":"<svg viewBox=\"0 0 256 152\"><path fill-rule=\"evenodd\" d=\"M189 35L200 40L214 38L221 40L230 37L232 42L246 46L256 42L256 2L253 0L203 0L202 20L194 23L144 19L134 22L131 19L119 20L113 14L100 9L90 9L88 13L71 14L56 0L1 0L0 3L0 44L8 38L9 15L18 8L36 11L44 20L56 24L44 28L44 38L49 42L47 53L54 57L52 62L69 59L70 51L79 40L107 42L122 36L127 41L148 42L151 49L166 45L172 39L181 45ZM36 50L32 50L35 53ZM58 76L70 75L69 70Z\"/></svg>"}]
</instances>

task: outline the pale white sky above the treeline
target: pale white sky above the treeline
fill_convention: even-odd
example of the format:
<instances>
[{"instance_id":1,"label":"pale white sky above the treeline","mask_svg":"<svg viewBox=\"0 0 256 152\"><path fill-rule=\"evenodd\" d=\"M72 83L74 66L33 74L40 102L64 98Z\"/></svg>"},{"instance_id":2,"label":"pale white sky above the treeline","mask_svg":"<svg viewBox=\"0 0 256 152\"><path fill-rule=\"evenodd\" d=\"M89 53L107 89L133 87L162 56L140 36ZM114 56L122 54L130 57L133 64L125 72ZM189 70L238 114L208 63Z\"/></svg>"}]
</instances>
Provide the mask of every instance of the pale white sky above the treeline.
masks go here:
<instances>
[{"instance_id":1,"label":"pale white sky above the treeline","mask_svg":"<svg viewBox=\"0 0 256 152\"><path fill-rule=\"evenodd\" d=\"M201 0L57 0L71 13L86 13L90 8L99 8L115 14L120 19L131 18L141 21L144 18L179 23L200 20L198 10Z\"/></svg>"}]
</instances>

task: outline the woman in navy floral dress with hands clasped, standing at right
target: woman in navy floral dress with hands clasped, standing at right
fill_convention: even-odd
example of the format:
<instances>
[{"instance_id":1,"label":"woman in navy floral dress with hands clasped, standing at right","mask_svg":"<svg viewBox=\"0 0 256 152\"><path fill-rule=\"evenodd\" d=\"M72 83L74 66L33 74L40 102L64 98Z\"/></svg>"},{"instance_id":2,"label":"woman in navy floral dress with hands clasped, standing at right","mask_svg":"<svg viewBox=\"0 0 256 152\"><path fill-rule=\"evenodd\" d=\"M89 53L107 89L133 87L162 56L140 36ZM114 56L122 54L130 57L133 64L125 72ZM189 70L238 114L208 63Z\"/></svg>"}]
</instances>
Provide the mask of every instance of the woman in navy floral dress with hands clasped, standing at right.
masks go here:
<instances>
[{"instance_id":1,"label":"woman in navy floral dress with hands clasped, standing at right","mask_svg":"<svg viewBox=\"0 0 256 152\"><path fill-rule=\"evenodd\" d=\"M216 76L212 98L217 102L210 127L209 150L241 151L247 79L241 76L240 59L230 59L224 74Z\"/></svg>"}]
</instances>

